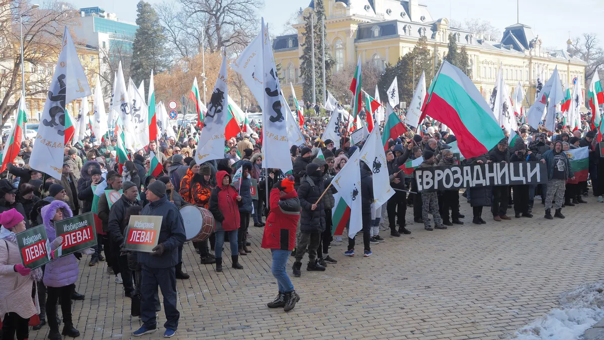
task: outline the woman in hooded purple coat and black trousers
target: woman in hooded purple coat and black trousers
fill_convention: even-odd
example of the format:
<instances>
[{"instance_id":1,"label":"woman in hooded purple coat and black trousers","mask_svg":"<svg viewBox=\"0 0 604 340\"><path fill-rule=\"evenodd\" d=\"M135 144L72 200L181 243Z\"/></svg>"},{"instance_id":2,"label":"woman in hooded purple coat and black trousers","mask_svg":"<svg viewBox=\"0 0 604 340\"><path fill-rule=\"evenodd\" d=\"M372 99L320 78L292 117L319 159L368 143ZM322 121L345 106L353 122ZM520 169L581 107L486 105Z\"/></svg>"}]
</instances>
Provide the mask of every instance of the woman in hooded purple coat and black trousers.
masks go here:
<instances>
[{"instance_id":1,"label":"woman in hooded purple coat and black trousers","mask_svg":"<svg viewBox=\"0 0 604 340\"><path fill-rule=\"evenodd\" d=\"M42 220L46 227L48 241L51 242L51 250L57 249L63 243L63 237L56 237L54 223L63 220L63 218L72 217L72 212L67 203L63 201L52 201L42 208ZM60 340L62 335L76 338L80 332L74 328L71 320L71 292L77 281L78 266L76 255L69 254L65 257L55 258L46 264L44 269L43 283L47 287L46 311L48 315L56 315L57 301L61 303L63 312L63 332L59 333L59 324L56 318L48 318L50 333L48 339Z\"/></svg>"}]
</instances>

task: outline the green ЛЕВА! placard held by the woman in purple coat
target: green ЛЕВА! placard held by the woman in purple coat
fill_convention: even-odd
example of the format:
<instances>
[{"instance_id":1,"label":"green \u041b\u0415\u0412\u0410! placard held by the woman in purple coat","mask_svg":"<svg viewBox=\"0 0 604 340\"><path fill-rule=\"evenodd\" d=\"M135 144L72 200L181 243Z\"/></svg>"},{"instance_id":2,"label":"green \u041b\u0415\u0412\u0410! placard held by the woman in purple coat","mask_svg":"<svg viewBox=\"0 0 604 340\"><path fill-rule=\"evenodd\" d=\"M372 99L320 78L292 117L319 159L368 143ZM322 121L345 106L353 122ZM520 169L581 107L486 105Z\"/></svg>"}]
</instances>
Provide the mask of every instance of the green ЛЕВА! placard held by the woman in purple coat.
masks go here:
<instances>
[{"instance_id":1,"label":"green \u041b\u0415\u0412\u0410! placard held by the woman in purple coat","mask_svg":"<svg viewBox=\"0 0 604 340\"><path fill-rule=\"evenodd\" d=\"M56 221L54 230L63 237L62 257L97 245L93 212Z\"/></svg>"}]
</instances>

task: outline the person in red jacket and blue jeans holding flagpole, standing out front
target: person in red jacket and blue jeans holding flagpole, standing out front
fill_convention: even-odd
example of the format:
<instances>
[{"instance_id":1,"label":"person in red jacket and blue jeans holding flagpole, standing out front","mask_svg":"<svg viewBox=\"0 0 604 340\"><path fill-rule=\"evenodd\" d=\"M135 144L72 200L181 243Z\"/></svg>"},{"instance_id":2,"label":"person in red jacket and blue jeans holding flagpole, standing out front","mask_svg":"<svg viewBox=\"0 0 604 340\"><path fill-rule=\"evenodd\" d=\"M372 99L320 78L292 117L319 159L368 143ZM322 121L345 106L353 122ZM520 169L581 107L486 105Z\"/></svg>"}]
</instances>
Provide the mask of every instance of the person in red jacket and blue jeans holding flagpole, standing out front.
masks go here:
<instances>
[{"instance_id":1,"label":"person in red jacket and blue jeans holding flagpole, standing out front","mask_svg":"<svg viewBox=\"0 0 604 340\"><path fill-rule=\"evenodd\" d=\"M300 220L300 198L294 190L294 176L289 175L272 186L269 205L271 212L266 218L262 247L271 249L271 270L277 279L279 293L268 307L283 307L283 310L289 312L300 300L286 270L289 255L296 242L296 226Z\"/></svg>"}]
</instances>

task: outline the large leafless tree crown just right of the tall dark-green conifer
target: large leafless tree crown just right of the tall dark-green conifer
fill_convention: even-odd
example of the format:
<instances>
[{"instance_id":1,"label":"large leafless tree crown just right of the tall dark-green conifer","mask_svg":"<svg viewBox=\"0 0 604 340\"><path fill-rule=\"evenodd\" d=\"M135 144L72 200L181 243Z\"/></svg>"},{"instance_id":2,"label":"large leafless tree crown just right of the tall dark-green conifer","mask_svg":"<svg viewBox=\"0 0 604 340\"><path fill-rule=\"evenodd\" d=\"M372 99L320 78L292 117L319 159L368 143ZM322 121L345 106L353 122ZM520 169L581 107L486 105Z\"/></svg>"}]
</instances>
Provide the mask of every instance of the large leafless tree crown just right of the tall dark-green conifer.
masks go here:
<instances>
[{"instance_id":1,"label":"large leafless tree crown just right of the tall dark-green conifer","mask_svg":"<svg viewBox=\"0 0 604 340\"><path fill-rule=\"evenodd\" d=\"M263 0L177 1L159 5L158 13L170 44L182 57L201 51L202 30L210 53L245 48L259 31L256 12Z\"/></svg>"}]
</instances>

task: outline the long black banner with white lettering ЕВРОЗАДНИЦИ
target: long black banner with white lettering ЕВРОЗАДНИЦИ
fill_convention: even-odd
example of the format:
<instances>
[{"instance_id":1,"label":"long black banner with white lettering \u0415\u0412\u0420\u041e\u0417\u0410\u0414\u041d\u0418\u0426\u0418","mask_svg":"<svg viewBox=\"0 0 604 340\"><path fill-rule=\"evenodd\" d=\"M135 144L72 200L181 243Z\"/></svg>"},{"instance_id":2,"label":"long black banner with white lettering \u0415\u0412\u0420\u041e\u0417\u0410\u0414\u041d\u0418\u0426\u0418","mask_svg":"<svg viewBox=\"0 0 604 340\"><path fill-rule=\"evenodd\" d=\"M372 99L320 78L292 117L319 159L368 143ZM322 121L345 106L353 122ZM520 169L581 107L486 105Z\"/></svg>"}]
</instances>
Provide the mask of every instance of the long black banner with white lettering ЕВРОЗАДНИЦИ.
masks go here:
<instances>
[{"instance_id":1,"label":"long black banner with white lettering \u0415\u0412\u0420\u041e\u0417\u0410\u0414\u041d\u0418\u0426\u0418","mask_svg":"<svg viewBox=\"0 0 604 340\"><path fill-rule=\"evenodd\" d=\"M418 191L454 190L480 186L547 183L541 162L434 166L415 171Z\"/></svg>"}]
</instances>

